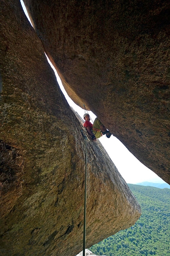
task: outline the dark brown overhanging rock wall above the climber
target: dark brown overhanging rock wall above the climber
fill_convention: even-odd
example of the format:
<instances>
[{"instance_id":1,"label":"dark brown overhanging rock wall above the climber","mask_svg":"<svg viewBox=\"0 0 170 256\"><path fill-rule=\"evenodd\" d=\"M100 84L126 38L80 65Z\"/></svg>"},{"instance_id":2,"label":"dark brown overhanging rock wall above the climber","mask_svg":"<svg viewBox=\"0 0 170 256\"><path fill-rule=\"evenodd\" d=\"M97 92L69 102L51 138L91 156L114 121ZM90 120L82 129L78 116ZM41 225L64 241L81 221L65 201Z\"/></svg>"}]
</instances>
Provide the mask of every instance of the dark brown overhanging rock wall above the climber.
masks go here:
<instances>
[{"instance_id":1,"label":"dark brown overhanging rock wall above the climber","mask_svg":"<svg viewBox=\"0 0 170 256\"><path fill-rule=\"evenodd\" d=\"M24 2L70 97L170 184L169 0Z\"/></svg>"}]
</instances>

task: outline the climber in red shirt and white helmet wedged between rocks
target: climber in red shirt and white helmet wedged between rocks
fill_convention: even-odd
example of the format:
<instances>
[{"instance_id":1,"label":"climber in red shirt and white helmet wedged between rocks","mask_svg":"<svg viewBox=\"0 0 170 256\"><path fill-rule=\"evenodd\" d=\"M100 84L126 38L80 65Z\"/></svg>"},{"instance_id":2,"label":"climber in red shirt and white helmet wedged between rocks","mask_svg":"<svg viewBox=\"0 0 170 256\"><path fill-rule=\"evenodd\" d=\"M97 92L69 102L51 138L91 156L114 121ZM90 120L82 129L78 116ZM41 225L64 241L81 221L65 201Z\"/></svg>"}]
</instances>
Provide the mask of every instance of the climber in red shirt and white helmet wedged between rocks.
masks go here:
<instances>
[{"instance_id":1,"label":"climber in red shirt and white helmet wedged between rocks","mask_svg":"<svg viewBox=\"0 0 170 256\"><path fill-rule=\"evenodd\" d=\"M93 124L90 122L90 116L88 113L85 113L83 118L85 120L83 125L86 128L88 134L91 136L92 140L96 141L96 139L100 138L104 134L106 134L107 138L110 138L111 132L106 129L106 127L97 117Z\"/></svg>"}]
</instances>

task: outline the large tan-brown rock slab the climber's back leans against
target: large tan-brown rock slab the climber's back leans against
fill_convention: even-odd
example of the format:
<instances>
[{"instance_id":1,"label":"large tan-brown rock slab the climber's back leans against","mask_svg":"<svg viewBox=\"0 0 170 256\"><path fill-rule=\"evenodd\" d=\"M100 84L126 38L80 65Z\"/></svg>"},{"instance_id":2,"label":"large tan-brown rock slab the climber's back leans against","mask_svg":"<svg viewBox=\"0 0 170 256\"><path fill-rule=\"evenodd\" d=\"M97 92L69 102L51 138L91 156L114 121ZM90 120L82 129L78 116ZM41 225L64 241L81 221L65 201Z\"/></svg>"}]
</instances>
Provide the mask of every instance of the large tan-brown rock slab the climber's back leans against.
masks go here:
<instances>
[{"instance_id":1,"label":"large tan-brown rock slab the climber's back leans against","mask_svg":"<svg viewBox=\"0 0 170 256\"><path fill-rule=\"evenodd\" d=\"M0 2L0 255L83 246L85 141L19 0ZM87 140L87 247L141 211L99 142Z\"/></svg>"}]
</instances>

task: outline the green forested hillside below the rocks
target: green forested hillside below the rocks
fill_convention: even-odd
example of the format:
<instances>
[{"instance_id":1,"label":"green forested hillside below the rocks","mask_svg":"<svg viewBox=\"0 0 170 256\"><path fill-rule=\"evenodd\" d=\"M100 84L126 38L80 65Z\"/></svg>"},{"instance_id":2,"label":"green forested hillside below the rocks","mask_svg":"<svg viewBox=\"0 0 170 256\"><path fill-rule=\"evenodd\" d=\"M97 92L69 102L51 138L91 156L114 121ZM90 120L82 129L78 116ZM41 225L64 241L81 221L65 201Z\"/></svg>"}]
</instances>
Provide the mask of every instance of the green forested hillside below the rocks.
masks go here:
<instances>
[{"instance_id":1,"label":"green forested hillside below the rocks","mask_svg":"<svg viewBox=\"0 0 170 256\"><path fill-rule=\"evenodd\" d=\"M107 256L170 256L170 189L128 186L142 208L140 219L90 250Z\"/></svg>"}]
</instances>

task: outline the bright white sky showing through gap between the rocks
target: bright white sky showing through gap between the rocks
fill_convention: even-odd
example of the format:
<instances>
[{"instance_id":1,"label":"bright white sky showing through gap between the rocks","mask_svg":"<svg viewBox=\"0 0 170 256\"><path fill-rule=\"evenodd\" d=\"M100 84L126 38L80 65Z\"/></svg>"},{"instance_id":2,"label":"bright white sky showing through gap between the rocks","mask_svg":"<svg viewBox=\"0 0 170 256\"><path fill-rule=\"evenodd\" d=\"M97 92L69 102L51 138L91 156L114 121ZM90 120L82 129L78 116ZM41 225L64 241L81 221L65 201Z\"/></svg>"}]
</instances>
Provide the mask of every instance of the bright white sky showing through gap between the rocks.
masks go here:
<instances>
[{"instance_id":1,"label":"bright white sky showing through gap between the rocks","mask_svg":"<svg viewBox=\"0 0 170 256\"><path fill-rule=\"evenodd\" d=\"M22 0L21 4L28 20L30 21ZM77 106L70 99L70 97L68 97L55 68L51 63L50 65L55 72L57 81L69 105L83 118L85 110ZM91 116L91 120L94 121L96 116L91 111L88 112ZM99 140L108 152L108 155L110 156L113 163L116 165L119 173L121 173L127 183L136 184L144 181L164 183L164 180L157 176L153 171L145 167L145 165L140 163L140 161L138 161L138 159L136 159L136 157L134 157L134 155L132 155L132 153L130 153L128 149L116 137L111 136L110 139L108 139L106 136L102 136Z\"/></svg>"}]
</instances>

